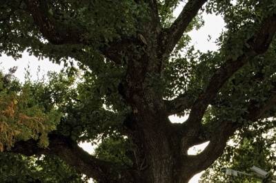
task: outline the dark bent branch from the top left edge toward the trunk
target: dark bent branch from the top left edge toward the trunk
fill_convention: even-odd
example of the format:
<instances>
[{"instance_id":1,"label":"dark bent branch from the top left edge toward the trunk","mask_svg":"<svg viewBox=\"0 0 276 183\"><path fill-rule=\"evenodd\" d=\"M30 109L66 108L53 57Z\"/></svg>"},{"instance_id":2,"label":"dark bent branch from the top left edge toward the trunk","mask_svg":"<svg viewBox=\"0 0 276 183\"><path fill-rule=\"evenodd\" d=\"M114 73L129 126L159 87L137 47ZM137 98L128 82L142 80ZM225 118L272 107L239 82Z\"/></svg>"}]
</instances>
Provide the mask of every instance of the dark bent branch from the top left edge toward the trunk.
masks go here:
<instances>
[{"instance_id":1,"label":"dark bent branch from the top left edge toward the trunk","mask_svg":"<svg viewBox=\"0 0 276 183\"><path fill-rule=\"evenodd\" d=\"M39 28L45 39L54 45L64 44L82 44L90 45L93 41L88 39L89 31L82 28L81 25L73 25L69 23L61 23L55 20L48 10L47 1L41 0L25 0L28 12L32 15L34 23ZM137 39L124 38L115 39L115 41L106 44L103 39L97 40L103 45L99 48L99 52L115 63L121 63L123 52L128 49L130 43L136 43Z\"/></svg>"}]
</instances>

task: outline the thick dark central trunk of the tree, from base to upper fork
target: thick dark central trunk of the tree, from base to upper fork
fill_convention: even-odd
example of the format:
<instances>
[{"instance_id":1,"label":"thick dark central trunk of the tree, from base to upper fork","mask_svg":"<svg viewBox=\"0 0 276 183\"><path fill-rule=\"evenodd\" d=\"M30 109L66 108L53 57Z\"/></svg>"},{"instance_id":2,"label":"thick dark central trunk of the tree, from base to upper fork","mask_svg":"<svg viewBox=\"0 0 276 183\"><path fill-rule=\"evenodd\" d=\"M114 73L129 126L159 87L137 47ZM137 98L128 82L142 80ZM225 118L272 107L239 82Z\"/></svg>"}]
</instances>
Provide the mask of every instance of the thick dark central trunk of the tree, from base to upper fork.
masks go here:
<instances>
[{"instance_id":1,"label":"thick dark central trunk of the tree, from base to upper fork","mask_svg":"<svg viewBox=\"0 0 276 183\"><path fill-rule=\"evenodd\" d=\"M146 40L151 40L147 38ZM155 37L157 40L157 37ZM195 171L184 169L186 154L181 144L179 128L168 119L163 100L162 71L164 59L159 54L158 41L148 41L143 49L128 50L128 69L121 95L132 107L126 122L134 150L134 182L188 182ZM143 51L146 50L146 51ZM190 166L190 165L188 165Z\"/></svg>"}]
</instances>

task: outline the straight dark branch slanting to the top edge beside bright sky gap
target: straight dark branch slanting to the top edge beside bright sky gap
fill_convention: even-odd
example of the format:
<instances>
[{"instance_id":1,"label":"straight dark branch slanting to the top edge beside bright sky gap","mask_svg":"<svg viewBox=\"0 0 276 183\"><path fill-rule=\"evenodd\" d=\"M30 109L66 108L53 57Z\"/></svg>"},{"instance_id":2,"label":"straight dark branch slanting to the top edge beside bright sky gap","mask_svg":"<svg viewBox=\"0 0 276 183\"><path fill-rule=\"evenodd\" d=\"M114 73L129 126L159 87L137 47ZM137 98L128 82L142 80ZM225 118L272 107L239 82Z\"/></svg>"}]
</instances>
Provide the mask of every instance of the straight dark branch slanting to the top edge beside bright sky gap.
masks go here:
<instances>
[{"instance_id":1,"label":"straight dark branch slanting to the top edge beside bright sky gap","mask_svg":"<svg viewBox=\"0 0 276 183\"><path fill-rule=\"evenodd\" d=\"M197 15L199 9L206 3L207 0L190 0L184 6L183 10L179 14L179 17L170 26L168 30L165 30L163 36L164 40L164 54L172 52L173 48L184 34L189 23Z\"/></svg>"}]
</instances>

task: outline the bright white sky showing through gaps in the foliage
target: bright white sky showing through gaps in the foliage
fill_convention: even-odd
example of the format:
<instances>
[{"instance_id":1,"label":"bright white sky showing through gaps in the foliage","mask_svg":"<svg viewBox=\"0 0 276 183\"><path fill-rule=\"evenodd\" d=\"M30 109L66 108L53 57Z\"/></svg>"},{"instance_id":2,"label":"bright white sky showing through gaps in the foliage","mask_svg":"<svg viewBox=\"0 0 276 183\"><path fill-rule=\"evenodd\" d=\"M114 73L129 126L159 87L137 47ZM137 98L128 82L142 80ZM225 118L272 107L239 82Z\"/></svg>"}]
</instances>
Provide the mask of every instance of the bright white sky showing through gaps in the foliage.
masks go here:
<instances>
[{"instance_id":1,"label":"bright white sky showing through gaps in the foliage","mask_svg":"<svg viewBox=\"0 0 276 183\"><path fill-rule=\"evenodd\" d=\"M175 15L179 14L182 6L179 6L175 11ZM215 15L204 14L204 27L200 30L190 32L190 36L192 37L192 44L195 45L195 48L201 50L201 52L206 52L208 50L217 50L217 45L215 45L215 40L218 38L221 30L224 28L224 21L221 17L217 17ZM211 36L212 39L208 41L208 36ZM57 65L48 61L48 59L44 59L43 61L38 61L38 59L34 56L29 56L28 53L23 53L22 58L17 61L10 56L2 55L0 57L0 69L3 72L8 72L10 67L18 66L17 72L15 72L15 76L19 78L19 80L24 80L25 69L29 66L30 74L32 76L32 80L36 80L37 77L42 77L47 74L48 71L59 72L62 68L61 65ZM40 69L39 69L40 68ZM39 73L38 73L39 70ZM175 116L170 116L170 120L172 122L183 122L185 118L179 119ZM81 147L92 153L93 148L90 143L83 143ZM199 145L198 147L193 147L190 149L189 153L195 153L198 149L202 149L206 147L206 143L203 145ZM200 174L197 174L190 180L189 183L197 183L199 180Z\"/></svg>"}]
</instances>

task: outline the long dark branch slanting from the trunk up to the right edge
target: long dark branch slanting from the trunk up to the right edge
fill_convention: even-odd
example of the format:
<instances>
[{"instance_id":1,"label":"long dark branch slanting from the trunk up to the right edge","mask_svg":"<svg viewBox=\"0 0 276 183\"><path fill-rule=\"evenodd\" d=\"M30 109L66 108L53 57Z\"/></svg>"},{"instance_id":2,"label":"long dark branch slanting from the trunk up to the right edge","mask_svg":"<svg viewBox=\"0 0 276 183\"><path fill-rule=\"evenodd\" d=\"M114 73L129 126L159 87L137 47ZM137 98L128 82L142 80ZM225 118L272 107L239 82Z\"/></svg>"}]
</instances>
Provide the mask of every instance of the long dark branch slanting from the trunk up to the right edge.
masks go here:
<instances>
[{"instance_id":1,"label":"long dark branch slanting from the trunk up to the right edge","mask_svg":"<svg viewBox=\"0 0 276 183\"><path fill-rule=\"evenodd\" d=\"M243 54L237 59L228 59L222 65L213 77L210 79L205 91L199 95L199 98L193 104L190 116L186 125L198 128L201 118L212 100L217 96L219 89L226 83L228 78L233 76L238 69L243 67L251 58L258 54L264 54L273 39L276 32L276 15L264 19L259 31L244 45ZM250 47L248 47L250 45Z\"/></svg>"}]
</instances>

